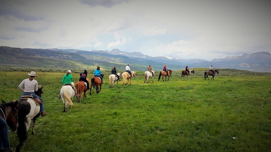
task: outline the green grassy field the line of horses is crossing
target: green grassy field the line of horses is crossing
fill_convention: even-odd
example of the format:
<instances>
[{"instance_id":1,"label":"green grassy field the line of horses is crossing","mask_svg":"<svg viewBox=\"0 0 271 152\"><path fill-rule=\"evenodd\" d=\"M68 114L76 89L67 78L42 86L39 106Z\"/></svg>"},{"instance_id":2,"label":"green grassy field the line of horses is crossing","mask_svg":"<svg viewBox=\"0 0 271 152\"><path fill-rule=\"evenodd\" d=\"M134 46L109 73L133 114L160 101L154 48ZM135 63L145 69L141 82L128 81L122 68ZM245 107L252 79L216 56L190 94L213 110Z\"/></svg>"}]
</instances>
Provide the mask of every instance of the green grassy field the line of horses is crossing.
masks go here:
<instances>
[{"instance_id":1,"label":"green grassy field the line of horses is crossing","mask_svg":"<svg viewBox=\"0 0 271 152\"><path fill-rule=\"evenodd\" d=\"M112 89L105 75L101 92L73 100L67 113L57 98L64 73L37 72L47 116L37 119L34 135L30 128L22 151L270 151L271 77L220 72L215 80L173 75L158 82L156 75L149 84L137 76ZM0 98L20 97L27 73L0 72ZM9 141L15 148L17 135Z\"/></svg>"}]
</instances>

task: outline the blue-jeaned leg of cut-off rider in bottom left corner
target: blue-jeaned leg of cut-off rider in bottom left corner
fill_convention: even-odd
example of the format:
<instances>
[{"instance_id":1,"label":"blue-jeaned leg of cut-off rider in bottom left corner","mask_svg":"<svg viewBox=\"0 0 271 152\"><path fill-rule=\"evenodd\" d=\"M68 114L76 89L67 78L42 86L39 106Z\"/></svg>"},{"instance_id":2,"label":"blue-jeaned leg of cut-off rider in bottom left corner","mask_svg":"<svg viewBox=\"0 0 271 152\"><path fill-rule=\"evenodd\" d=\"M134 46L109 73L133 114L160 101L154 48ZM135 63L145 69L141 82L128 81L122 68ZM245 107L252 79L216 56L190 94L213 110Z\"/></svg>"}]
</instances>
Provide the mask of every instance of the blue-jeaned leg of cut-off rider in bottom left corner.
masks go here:
<instances>
[{"instance_id":1,"label":"blue-jeaned leg of cut-off rider in bottom left corner","mask_svg":"<svg viewBox=\"0 0 271 152\"><path fill-rule=\"evenodd\" d=\"M5 122L5 120L1 117L0 117L0 149L9 149L8 125Z\"/></svg>"}]
</instances>

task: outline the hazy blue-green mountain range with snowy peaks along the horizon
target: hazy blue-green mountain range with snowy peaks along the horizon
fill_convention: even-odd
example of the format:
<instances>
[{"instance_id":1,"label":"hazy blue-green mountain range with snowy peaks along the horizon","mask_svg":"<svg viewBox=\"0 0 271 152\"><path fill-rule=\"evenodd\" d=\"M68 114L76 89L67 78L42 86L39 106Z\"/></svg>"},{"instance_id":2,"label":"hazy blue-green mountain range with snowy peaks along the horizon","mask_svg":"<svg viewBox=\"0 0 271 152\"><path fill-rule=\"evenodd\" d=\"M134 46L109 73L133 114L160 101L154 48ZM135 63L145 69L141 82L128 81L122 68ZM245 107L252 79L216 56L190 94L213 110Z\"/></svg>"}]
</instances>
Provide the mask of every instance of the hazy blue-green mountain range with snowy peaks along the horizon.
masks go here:
<instances>
[{"instance_id":1,"label":"hazy blue-green mountain range with snowy peaks along the horizon","mask_svg":"<svg viewBox=\"0 0 271 152\"><path fill-rule=\"evenodd\" d=\"M171 70L191 68L230 68L256 72L271 72L271 55L269 52L256 52L241 56L214 59L212 61L191 59L183 60L162 56L148 56L140 52L124 52L119 49L111 51L78 49L29 49L0 47L1 67L40 67L40 68L95 68L101 66L106 70L113 67L124 69L130 64L132 71L146 71L149 65L153 70L161 70L164 64Z\"/></svg>"}]
</instances>

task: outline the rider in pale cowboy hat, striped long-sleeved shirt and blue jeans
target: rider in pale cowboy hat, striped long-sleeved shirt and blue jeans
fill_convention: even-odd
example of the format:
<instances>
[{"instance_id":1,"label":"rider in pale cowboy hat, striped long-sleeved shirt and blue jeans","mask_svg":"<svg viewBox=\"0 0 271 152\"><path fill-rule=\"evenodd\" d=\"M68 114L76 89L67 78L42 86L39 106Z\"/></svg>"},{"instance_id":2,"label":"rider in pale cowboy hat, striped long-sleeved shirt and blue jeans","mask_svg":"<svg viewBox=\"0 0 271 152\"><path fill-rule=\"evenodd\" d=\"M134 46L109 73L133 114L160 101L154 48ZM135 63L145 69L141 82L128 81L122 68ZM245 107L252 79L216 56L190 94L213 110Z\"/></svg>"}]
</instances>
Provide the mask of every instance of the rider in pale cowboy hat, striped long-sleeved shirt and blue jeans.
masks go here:
<instances>
[{"instance_id":1,"label":"rider in pale cowboy hat, striped long-sleeved shirt and blue jeans","mask_svg":"<svg viewBox=\"0 0 271 152\"><path fill-rule=\"evenodd\" d=\"M38 81L35 80L34 78L37 77L38 75L36 75L36 72L34 72L34 71L31 71L27 75L30 75L30 77L22 80L22 82L19 84L20 90L22 90L22 92L24 92L21 95L21 97L23 95L31 95L34 98L39 98L41 101L41 105L40 105L41 117L43 117L46 115L46 112L44 111L44 107L43 107L43 100L41 99L41 97L39 97L38 95L35 94L35 91L38 91ZM24 89L22 88L22 86L24 86Z\"/></svg>"}]
</instances>

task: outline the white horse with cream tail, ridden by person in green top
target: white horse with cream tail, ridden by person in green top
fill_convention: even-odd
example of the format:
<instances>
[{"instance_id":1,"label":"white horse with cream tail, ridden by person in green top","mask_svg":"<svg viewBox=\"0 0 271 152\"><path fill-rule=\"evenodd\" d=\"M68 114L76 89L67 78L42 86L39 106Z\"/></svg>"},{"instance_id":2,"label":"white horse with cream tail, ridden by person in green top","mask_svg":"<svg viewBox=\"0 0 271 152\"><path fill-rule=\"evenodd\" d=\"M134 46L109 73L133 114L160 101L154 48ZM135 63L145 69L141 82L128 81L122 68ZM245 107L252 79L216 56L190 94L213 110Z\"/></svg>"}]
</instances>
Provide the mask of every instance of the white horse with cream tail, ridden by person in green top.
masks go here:
<instances>
[{"instance_id":1,"label":"white horse with cream tail, ridden by person in green top","mask_svg":"<svg viewBox=\"0 0 271 152\"><path fill-rule=\"evenodd\" d=\"M74 82L72 82L72 85L74 86ZM70 105L69 109L73 105L72 99L74 97L74 90L73 90L72 86L64 85L60 90L60 95L61 95L61 99L62 99L62 102L64 105L63 112L66 113L68 105Z\"/></svg>"}]
</instances>

